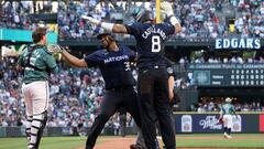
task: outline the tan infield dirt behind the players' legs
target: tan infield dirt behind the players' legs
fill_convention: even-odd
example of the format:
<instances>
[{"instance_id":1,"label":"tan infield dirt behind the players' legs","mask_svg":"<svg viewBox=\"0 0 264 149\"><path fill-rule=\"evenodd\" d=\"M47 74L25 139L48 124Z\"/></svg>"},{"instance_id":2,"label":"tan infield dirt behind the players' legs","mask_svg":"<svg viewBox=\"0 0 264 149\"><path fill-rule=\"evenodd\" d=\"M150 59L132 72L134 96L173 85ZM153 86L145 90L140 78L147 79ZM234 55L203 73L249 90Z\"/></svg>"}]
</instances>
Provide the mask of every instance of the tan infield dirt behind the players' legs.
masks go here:
<instances>
[{"instance_id":1,"label":"tan infield dirt behind the players' legs","mask_svg":"<svg viewBox=\"0 0 264 149\"><path fill-rule=\"evenodd\" d=\"M176 137L177 139L222 139L222 137L211 136L211 137ZM235 139L249 139L249 137L235 137ZM257 137L251 137L251 139L257 139ZM258 138L260 139L260 138ZM98 143L95 149L129 149L130 145L135 142L134 137L113 137L113 138L101 138L100 143ZM162 145L160 142L160 145ZM79 147L76 149L85 149ZM260 149L260 148L177 148L177 149Z\"/></svg>"}]
</instances>

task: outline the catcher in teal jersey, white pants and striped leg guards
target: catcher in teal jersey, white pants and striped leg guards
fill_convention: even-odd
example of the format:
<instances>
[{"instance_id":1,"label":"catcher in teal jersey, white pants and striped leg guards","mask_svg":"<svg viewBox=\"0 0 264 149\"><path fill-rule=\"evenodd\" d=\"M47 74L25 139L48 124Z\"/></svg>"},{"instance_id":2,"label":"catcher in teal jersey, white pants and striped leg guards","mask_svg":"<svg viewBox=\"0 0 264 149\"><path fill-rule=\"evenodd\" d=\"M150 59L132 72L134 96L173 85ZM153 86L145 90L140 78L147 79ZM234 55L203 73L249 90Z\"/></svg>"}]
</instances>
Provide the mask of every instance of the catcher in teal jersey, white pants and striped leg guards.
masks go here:
<instances>
[{"instance_id":1,"label":"catcher in teal jersey, white pants and striped leg guards","mask_svg":"<svg viewBox=\"0 0 264 149\"><path fill-rule=\"evenodd\" d=\"M46 49L46 29L37 28L32 39L34 43L20 55L18 70L24 71L22 94L26 110L28 149L38 149L47 120L48 76L57 73L58 67Z\"/></svg>"}]
</instances>

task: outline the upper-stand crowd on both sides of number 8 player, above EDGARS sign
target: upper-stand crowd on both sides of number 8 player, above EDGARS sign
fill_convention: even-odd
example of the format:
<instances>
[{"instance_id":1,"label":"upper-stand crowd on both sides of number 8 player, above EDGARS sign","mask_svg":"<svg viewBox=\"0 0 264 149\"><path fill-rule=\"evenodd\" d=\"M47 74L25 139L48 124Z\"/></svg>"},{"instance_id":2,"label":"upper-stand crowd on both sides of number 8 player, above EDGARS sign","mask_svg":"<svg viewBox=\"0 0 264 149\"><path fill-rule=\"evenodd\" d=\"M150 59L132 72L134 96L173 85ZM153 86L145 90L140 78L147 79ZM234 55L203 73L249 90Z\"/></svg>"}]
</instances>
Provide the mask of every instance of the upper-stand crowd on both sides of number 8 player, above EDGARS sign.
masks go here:
<instances>
[{"instance_id":1,"label":"upper-stand crowd on both sides of number 8 player, above EDGARS sign","mask_svg":"<svg viewBox=\"0 0 264 149\"><path fill-rule=\"evenodd\" d=\"M264 2L262 0L173 0L176 17L182 20L183 31L178 39L264 38ZM154 2L146 4L84 0L81 3L59 3L58 26L62 39L86 39L100 32L80 19L91 15L107 22L132 23L135 14L146 8L155 13ZM224 11L232 12L224 14ZM114 15L122 15L114 18ZM233 22L227 18L233 18Z\"/></svg>"}]
</instances>

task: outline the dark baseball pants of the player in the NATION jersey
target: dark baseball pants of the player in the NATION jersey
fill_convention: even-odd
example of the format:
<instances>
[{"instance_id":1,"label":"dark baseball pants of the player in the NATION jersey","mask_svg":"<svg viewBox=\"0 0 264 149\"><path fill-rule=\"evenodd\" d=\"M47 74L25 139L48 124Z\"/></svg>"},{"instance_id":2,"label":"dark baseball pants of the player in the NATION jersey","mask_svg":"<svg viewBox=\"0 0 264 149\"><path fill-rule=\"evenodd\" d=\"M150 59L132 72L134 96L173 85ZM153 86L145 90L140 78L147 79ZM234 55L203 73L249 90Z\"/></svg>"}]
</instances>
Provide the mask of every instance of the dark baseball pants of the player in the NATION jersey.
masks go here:
<instances>
[{"instance_id":1,"label":"dark baseball pants of the player in the NATION jersey","mask_svg":"<svg viewBox=\"0 0 264 149\"><path fill-rule=\"evenodd\" d=\"M133 87L122 91L107 91L101 103L100 113L92 124L86 141L86 149L92 149L98 136L109 118L120 108L125 108L141 127L140 108L136 92Z\"/></svg>"}]
</instances>

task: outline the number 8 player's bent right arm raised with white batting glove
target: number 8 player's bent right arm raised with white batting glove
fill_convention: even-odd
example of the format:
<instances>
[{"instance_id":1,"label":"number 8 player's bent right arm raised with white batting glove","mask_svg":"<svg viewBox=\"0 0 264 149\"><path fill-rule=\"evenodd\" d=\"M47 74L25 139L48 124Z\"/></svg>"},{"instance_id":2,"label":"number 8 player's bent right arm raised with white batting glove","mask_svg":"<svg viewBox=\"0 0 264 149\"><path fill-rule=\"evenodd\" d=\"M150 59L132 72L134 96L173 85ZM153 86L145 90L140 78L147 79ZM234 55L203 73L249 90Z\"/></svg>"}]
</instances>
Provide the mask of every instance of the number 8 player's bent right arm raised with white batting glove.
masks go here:
<instances>
[{"instance_id":1,"label":"number 8 player's bent right arm raised with white batting glove","mask_svg":"<svg viewBox=\"0 0 264 149\"><path fill-rule=\"evenodd\" d=\"M161 4L161 9L162 9L162 11L164 11L164 13L166 13L167 18L169 19L169 23L174 25L175 33L180 32L182 25L180 25L178 19L174 15L172 4L169 2L164 1Z\"/></svg>"}]
</instances>

